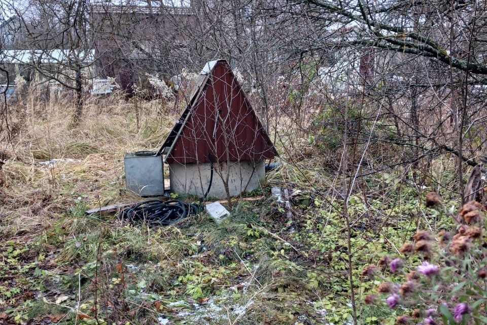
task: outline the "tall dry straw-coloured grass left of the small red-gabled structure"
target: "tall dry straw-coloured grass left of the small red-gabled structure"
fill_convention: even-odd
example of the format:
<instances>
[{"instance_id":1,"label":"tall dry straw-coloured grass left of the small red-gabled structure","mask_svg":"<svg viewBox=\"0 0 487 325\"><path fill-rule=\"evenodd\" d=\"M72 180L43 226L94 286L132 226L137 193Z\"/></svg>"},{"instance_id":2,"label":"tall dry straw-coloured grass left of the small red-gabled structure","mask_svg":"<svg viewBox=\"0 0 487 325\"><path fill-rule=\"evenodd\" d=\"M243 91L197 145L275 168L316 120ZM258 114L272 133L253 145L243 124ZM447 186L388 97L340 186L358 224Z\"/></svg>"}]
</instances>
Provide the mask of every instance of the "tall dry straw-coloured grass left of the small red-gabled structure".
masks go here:
<instances>
[{"instance_id":1,"label":"tall dry straw-coloured grass left of the small red-gabled structure","mask_svg":"<svg viewBox=\"0 0 487 325\"><path fill-rule=\"evenodd\" d=\"M93 98L85 104L82 122L73 126L69 103L42 108L36 101L23 103L21 131L1 146L11 156L0 171L4 234L47 226L46 220L65 213L80 197L92 206L133 201L132 194L120 191L124 154L156 150L175 118L160 116L157 101L144 103L137 129L130 104ZM50 159L53 164L42 165Z\"/></svg>"}]
</instances>

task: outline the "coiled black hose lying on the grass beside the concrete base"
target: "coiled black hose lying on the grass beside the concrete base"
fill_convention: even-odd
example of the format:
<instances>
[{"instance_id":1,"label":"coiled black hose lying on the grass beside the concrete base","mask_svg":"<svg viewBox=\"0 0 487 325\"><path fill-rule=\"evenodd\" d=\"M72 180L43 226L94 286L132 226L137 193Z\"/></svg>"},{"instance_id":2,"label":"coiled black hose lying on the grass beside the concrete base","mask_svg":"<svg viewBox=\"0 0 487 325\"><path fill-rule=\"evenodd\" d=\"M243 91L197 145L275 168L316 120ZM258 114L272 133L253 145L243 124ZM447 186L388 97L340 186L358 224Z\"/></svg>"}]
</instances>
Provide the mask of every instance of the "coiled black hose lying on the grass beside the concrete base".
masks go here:
<instances>
[{"instance_id":1,"label":"coiled black hose lying on the grass beside the concrete base","mask_svg":"<svg viewBox=\"0 0 487 325\"><path fill-rule=\"evenodd\" d=\"M200 213L201 210L200 205L179 200L147 200L124 209L118 217L131 224L145 223L149 226L161 226L176 223L191 214Z\"/></svg>"}]
</instances>

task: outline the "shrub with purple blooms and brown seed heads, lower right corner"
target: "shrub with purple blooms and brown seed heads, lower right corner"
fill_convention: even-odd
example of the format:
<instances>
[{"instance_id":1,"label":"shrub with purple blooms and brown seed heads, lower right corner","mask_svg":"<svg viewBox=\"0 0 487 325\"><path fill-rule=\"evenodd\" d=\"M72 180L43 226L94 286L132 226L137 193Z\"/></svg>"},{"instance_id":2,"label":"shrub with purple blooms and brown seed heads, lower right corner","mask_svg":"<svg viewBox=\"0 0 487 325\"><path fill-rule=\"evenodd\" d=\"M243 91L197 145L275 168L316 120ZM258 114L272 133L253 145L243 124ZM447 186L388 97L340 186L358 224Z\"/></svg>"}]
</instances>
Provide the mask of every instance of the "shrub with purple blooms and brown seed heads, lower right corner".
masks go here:
<instances>
[{"instance_id":1,"label":"shrub with purple blooms and brown seed heads, lower right corner","mask_svg":"<svg viewBox=\"0 0 487 325\"><path fill-rule=\"evenodd\" d=\"M364 302L404 313L397 318L398 324L486 323L484 207L468 202L457 217L447 212L436 194L427 198L432 201L427 206L455 219L454 230L435 235L418 231L414 243L401 247L403 256L386 258L379 267L366 267L363 275L370 280L380 278L382 283L377 294L367 296Z\"/></svg>"}]
</instances>

